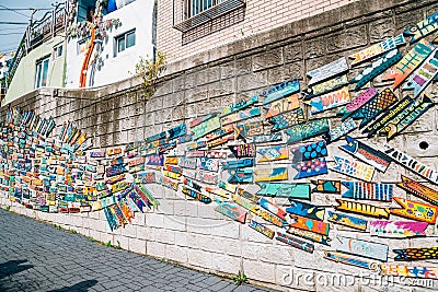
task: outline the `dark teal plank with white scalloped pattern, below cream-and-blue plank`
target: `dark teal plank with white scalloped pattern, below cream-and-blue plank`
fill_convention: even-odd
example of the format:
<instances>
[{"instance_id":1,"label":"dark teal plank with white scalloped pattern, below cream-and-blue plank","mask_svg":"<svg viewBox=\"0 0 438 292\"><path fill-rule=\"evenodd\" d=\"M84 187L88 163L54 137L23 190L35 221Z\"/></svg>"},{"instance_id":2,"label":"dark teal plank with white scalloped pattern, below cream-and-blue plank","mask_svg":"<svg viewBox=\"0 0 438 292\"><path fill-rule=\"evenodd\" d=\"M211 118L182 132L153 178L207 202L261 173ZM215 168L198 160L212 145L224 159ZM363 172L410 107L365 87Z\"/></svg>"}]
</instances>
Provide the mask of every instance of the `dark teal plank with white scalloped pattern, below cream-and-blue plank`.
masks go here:
<instances>
[{"instance_id":1,"label":"dark teal plank with white scalloped pattern, below cream-and-blue plank","mask_svg":"<svg viewBox=\"0 0 438 292\"><path fill-rule=\"evenodd\" d=\"M373 80L376 77L383 73L388 68L395 65L403 58L403 55L399 49L393 49L387 52L384 56L380 57L378 60L373 61L369 67L360 71L360 73L350 80L350 83L356 83L355 90L359 90L366 83Z\"/></svg>"}]
</instances>

